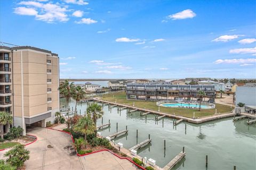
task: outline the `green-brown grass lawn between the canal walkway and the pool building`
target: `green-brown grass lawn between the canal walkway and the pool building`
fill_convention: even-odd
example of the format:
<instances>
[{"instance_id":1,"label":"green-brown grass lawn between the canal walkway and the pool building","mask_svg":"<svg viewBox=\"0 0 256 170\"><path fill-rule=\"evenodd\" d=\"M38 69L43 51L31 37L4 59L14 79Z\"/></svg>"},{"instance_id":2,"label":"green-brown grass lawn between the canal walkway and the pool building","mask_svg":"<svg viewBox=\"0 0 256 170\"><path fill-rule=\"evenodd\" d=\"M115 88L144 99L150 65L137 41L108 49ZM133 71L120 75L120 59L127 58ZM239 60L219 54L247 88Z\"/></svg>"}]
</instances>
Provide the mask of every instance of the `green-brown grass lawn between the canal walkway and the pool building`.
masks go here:
<instances>
[{"instance_id":1,"label":"green-brown grass lawn between the canal walkway and the pool building","mask_svg":"<svg viewBox=\"0 0 256 170\"><path fill-rule=\"evenodd\" d=\"M113 98L114 95L114 98ZM135 102L135 107L151 109L154 111L158 111L158 106L156 105L156 101L142 101L142 100L126 100L125 92L116 92L114 94L105 94L102 96L103 100L116 102L119 104L125 104L132 106L133 101ZM234 107L230 108L230 106L215 104L215 108L217 109L217 113L227 113L231 112ZM195 117L204 117L215 114L214 109L202 109L198 111L198 109L186 109L186 108L168 108L168 107L160 107L160 111L164 113L169 113L175 115L181 115L185 117L193 117L193 113L195 112Z\"/></svg>"}]
</instances>

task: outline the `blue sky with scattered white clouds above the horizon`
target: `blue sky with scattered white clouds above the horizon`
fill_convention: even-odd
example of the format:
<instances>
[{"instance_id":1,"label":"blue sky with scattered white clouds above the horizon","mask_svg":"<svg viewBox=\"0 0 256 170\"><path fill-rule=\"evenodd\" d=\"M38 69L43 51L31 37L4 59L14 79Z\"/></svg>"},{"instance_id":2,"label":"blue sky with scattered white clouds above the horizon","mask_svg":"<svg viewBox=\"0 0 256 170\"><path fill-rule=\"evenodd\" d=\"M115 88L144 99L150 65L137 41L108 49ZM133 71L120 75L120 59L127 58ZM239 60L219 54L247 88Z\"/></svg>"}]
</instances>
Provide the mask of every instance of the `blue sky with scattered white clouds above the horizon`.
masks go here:
<instances>
[{"instance_id":1,"label":"blue sky with scattered white clouds above the horizon","mask_svg":"<svg viewBox=\"0 0 256 170\"><path fill-rule=\"evenodd\" d=\"M256 78L255 1L0 1L0 40L61 78Z\"/></svg>"}]
</instances>

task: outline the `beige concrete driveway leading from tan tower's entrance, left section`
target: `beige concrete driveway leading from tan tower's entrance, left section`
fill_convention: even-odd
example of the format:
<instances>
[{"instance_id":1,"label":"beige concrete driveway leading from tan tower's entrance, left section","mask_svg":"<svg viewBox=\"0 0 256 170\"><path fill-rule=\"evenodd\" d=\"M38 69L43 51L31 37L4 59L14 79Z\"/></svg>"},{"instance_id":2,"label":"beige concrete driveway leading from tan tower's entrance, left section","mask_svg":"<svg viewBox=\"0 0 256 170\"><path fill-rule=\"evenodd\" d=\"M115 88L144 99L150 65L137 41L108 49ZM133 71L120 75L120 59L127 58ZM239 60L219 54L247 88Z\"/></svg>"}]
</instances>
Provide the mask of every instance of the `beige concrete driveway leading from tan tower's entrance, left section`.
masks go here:
<instances>
[{"instance_id":1,"label":"beige concrete driveway leading from tan tower's entrance, left section","mask_svg":"<svg viewBox=\"0 0 256 170\"><path fill-rule=\"evenodd\" d=\"M71 150L72 140L69 134L33 127L28 134L37 136L37 141L26 148L30 159L25 163L26 169L84 169L81 159Z\"/></svg>"}]
</instances>

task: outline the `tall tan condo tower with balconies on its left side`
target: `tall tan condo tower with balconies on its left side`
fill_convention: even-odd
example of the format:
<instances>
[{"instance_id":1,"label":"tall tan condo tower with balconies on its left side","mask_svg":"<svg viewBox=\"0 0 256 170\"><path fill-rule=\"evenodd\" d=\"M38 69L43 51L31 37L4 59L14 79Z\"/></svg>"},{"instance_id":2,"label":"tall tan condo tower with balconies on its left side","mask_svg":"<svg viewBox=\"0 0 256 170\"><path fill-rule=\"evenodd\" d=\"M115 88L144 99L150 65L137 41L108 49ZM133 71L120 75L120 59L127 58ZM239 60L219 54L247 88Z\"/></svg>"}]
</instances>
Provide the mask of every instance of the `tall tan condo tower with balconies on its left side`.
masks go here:
<instances>
[{"instance_id":1,"label":"tall tan condo tower with balconies on its left side","mask_svg":"<svg viewBox=\"0 0 256 170\"><path fill-rule=\"evenodd\" d=\"M0 111L12 114L12 126L21 126L26 134L26 126L53 122L59 111L58 87L58 54L30 46L0 46Z\"/></svg>"}]
</instances>

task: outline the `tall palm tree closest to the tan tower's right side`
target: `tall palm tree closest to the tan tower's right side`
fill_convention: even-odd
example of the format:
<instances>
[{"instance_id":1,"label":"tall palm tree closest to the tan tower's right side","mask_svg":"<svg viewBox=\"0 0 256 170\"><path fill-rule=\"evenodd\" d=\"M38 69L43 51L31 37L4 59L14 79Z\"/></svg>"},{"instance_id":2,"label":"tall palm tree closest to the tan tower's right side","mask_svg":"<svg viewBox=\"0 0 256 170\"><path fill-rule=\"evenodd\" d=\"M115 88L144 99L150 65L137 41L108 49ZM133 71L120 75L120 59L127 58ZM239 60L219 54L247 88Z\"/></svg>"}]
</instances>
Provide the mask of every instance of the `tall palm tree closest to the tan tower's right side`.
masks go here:
<instances>
[{"instance_id":1,"label":"tall palm tree closest to the tan tower's right side","mask_svg":"<svg viewBox=\"0 0 256 170\"><path fill-rule=\"evenodd\" d=\"M60 90L60 94L63 95L64 97L66 97L66 100L67 100L67 104L68 104L68 121L67 121L67 124L68 124L68 129L70 129L70 123L69 123L69 99L71 97L73 97L74 93L75 93L74 82L69 83L68 80L65 80L64 82L62 82L60 84L59 90Z\"/></svg>"}]
</instances>

